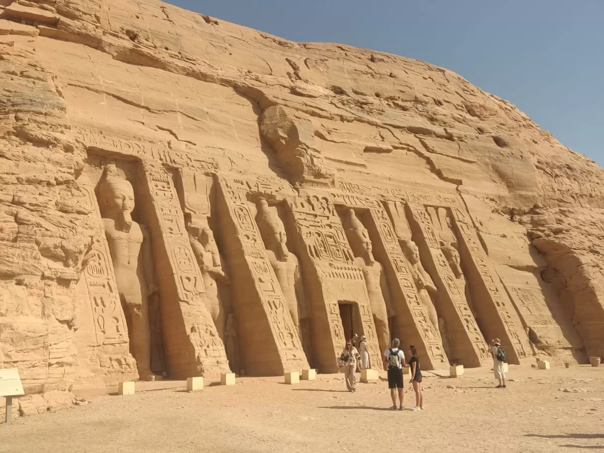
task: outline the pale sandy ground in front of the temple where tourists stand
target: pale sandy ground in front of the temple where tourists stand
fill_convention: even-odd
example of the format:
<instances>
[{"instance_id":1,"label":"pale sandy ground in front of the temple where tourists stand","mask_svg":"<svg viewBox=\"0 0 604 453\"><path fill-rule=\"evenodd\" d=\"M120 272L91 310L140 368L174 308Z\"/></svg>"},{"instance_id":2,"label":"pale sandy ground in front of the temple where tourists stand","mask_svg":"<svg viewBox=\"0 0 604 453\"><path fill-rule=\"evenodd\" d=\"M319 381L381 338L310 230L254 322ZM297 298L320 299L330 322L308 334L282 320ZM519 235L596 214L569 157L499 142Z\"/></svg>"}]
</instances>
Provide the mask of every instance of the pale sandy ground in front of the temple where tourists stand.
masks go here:
<instances>
[{"instance_id":1,"label":"pale sandy ground in front of the temple where tourists stand","mask_svg":"<svg viewBox=\"0 0 604 453\"><path fill-rule=\"evenodd\" d=\"M507 390L493 388L491 376L483 368L426 377L422 412L388 410L385 382L349 393L342 375L95 396L0 424L0 452L604 451L604 367L510 367Z\"/></svg>"}]
</instances>

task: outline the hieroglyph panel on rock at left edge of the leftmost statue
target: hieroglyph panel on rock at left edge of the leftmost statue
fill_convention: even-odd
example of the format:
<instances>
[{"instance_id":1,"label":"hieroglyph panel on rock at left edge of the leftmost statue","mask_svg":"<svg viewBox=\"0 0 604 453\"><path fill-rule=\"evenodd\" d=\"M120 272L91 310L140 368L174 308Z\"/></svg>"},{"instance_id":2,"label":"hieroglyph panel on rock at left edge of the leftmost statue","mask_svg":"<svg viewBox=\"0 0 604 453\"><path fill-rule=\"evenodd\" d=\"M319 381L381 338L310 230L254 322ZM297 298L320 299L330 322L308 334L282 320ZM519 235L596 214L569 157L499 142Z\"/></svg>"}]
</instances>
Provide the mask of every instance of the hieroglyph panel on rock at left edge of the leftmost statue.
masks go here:
<instances>
[{"instance_id":1,"label":"hieroglyph panel on rock at left edge of the leftmost statue","mask_svg":"<svg viewBox=\"0 0 604 453\"><path fill-rule=\"evenodd\" d=\"M82 188L94 208L95 219L100 219L93 188L86 184L82 184ZM115 284L109 246L100 222L98 228L98 233L92 239L91 249L83 260L83 275L91 303L97 345L127 343L126 319Z\"/></svg>"}]
</instances>

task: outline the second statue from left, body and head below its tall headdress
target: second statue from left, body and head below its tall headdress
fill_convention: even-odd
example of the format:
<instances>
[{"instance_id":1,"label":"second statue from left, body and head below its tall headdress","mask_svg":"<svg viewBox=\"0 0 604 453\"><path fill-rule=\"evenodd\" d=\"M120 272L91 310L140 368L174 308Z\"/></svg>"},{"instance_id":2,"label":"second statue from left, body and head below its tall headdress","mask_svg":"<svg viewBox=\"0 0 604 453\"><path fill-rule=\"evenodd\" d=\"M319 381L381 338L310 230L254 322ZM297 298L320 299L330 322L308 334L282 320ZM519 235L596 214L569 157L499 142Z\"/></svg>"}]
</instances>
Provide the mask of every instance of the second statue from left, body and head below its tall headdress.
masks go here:
<instances>
[{"instance_id":1,"label":"second statue from left, body and head below its tall headdress","mask_svg":"<svg viewBox=\"0 0 604 453\"><path fill-rule=\"evenodd\" d=\"M228 313L220 298L217 281L229 284L230 280L225 274L222 256L216 245L214 233L208 224L207 217L194 217L194 220L187 223L187 233L191 249L193 249L193 254L204 278L205 306L214 321L218 336L224 342Z\"/></svg>"}]
</instances>

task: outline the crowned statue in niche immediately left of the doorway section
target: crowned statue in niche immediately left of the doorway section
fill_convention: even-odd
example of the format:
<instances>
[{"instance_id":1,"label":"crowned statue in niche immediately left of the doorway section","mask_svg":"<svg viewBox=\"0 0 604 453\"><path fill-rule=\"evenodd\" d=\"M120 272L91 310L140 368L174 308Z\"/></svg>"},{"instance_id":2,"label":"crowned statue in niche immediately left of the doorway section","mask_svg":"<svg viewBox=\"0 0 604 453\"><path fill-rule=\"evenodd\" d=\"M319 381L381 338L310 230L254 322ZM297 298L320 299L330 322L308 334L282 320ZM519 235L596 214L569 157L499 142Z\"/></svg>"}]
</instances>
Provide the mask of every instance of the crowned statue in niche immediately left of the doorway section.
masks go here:
<instances>
[{"instance_id":1,"label":"crowned statue in niche immediately left of the doorway section","mask_svg":"<svg viewBox=\"0 0 604 453\"><path fill-rule=\"evenodd\" d=\"M306 335L301 335L301 314L306 318L306 296L304 295L304 282L300 273L300 260L288 250L283 222L278 214L271 210L265 199L257 203L256 223L265 243L266 254L277 281L283 291L283 296L288 304L289 313L294 321L300 340L304 341ZM305 323L306 324L306 323Z\"/></svg>"}]
</instances>

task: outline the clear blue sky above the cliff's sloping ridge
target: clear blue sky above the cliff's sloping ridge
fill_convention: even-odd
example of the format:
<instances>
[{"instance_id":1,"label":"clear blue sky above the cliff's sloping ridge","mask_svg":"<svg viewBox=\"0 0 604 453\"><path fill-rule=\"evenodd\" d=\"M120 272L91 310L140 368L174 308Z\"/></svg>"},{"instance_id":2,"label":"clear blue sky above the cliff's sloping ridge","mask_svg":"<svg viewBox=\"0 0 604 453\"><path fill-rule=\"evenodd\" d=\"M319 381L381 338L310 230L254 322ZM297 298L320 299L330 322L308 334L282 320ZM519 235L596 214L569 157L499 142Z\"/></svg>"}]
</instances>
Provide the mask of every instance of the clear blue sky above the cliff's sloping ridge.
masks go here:
<instances>
[{"instance_id":1,"label":"clear blue sky above the cliff's sloping ridge","mask_svg":"<svg viewBox=\"0 0 604 453\"><path fill-rule=\"evenodd\" d=\"M171 0L295 41L425 60L604 165L604 0Z\"/></svg>"}]
</instances>

